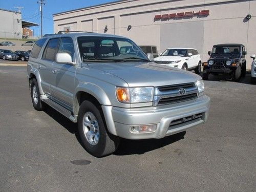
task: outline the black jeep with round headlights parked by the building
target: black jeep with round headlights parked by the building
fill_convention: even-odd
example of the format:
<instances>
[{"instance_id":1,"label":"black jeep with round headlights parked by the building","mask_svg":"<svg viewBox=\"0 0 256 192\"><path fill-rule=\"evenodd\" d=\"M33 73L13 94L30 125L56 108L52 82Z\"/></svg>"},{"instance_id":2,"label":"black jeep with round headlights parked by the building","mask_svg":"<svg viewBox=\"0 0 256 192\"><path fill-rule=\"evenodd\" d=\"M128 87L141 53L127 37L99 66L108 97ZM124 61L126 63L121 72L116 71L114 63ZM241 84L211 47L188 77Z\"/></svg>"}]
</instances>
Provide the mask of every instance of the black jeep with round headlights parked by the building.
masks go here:
<instances>
[{"instance_id":1,"label":"black jeep with round headlights parked by the building","mask_svg":"<svg viewBox=\"0 0 256 192\"><path fill-rule=\"evenodd\" d=\"M208 80L209 74L227 74L235 81L246 74L246 51L242 44L219 44L208 51L210 58L203 62L203 79Z\"/></svg>"}]
</instances>

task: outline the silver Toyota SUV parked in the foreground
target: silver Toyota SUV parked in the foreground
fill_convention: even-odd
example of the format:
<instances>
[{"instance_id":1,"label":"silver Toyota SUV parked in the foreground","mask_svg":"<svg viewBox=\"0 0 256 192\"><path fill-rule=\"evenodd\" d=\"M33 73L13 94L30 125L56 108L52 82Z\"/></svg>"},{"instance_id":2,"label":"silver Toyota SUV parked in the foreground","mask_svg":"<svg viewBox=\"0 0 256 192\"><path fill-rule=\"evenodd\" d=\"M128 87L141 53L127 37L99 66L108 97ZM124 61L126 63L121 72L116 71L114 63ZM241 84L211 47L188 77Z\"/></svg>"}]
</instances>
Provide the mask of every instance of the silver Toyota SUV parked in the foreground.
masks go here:
<instances>
[{"instance_id":1,"label":"silver Toyota SUV parked in the foreground","mask_svg":"<svg viewBox=\"0 0 256 192\"><path fill-rule=\"evenodd\" d=\"M120 48L134 51L123 53ZM33 106L78 123L86 150L102 157L120 138L160 139L204 123L210 98L199 75L160 66L130 39L97 33L47 36L28 62Z\"/></svg>"}]
</instances>

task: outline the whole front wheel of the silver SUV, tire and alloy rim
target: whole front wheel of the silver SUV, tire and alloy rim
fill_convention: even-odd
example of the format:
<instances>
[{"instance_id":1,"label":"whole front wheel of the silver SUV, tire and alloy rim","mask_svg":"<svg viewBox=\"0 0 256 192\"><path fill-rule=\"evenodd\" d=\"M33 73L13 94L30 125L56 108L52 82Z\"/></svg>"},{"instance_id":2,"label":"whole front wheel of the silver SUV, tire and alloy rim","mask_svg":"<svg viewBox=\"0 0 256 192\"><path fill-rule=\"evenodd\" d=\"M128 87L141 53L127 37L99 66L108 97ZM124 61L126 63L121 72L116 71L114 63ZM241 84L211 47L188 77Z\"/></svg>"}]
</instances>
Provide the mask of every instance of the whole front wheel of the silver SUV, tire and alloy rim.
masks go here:
<instances>
[{"instance_id":1,"label":"whole front wheel of the silver SUV, tire and alloy rim","mask_svg":"<svg viewBox=\"0 0 256 192\"><path fill-rule=\"evenodd\" d=\"M100 106L91 101L81 103L78 112L78 131L86 151L95 157L103 157L117 150L120 139L108 132Z\"/></svg>"}]
</instances>

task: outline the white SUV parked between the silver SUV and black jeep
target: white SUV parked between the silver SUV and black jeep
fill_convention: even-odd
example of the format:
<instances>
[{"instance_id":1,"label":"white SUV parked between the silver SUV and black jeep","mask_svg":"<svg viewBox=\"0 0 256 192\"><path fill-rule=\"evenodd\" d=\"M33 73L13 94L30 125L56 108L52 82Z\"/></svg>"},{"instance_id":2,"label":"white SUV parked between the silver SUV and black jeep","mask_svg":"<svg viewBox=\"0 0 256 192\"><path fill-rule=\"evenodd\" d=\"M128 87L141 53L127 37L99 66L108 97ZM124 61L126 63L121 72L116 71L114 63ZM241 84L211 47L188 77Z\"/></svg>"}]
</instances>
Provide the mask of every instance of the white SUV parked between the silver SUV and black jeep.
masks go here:
<instances>
[{"instance_id":1,"label":"white SUV parked between the silver SUV and black jeep","mask_svg":"<svg viewBox=\"0 0 256 192\"><path fill-rule=\"evenodd\" d=\"M191 48L169 48L156 57L154 62L184 70L195 70L197 74L201 72L201 56L196 49Z\"/></svg>"}]
</instances>

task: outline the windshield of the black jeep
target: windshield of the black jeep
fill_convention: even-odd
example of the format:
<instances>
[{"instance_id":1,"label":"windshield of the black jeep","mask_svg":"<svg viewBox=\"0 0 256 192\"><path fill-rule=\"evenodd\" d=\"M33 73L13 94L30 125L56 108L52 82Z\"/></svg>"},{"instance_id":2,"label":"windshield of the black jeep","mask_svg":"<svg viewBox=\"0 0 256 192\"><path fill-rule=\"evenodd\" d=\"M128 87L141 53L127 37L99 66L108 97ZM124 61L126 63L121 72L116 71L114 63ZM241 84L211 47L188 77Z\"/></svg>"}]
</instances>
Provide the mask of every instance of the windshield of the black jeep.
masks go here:
<instances>
[{"instance_id":1,"label":"windshield of the black jeep","mask_svg":"<svg viewBox=\"0 0 256 192\"><path fill-rule=\"evenodd\" d=\"M218 55L239 55L240 46L214 46L211 53Z\"/></svg>"}]
</instances>

